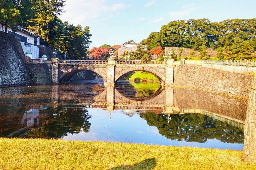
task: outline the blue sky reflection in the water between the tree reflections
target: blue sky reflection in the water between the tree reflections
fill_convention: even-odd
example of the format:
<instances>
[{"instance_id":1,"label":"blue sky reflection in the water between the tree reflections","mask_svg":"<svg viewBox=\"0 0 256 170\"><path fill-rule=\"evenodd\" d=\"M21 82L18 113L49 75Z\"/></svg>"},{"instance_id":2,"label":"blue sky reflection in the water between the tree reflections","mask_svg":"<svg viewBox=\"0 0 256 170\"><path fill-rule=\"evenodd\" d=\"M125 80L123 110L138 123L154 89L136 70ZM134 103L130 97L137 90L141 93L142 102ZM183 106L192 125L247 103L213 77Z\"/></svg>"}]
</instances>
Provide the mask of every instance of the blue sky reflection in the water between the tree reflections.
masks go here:
<instances>
[{"instance_id":1,"label":"blue sky reflection in the water between the tree reflections","mask_svg":"<svg viewBox=\"0 0 256 170\"><path fill-rule=\"evenodd\" d=\"M124 143L144 143L168 146L190 146L218 149L243 149L243 144L223 143L217 139L208 139L205 143L185 142L167 139L158 133L157 127L147 124L138 114L129 117L122 110L115 110L111 120L109 111L88 108L91 127L88 133L68 134L64 140L112 141Z\"/></svg>"}]
</instances>

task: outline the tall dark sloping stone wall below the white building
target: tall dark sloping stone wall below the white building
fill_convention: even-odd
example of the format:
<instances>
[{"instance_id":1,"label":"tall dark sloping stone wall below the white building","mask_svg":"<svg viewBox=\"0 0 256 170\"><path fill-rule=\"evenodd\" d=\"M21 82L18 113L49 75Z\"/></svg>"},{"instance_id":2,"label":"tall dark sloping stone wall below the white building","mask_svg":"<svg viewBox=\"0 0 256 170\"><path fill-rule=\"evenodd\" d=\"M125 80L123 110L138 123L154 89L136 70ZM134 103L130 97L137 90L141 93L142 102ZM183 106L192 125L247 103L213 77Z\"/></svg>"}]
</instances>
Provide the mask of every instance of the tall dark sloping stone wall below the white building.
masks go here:
<instances>
[{"instance_id":1,"label":"tall dark sloping stone wall below the white building","mask_svg":"<svg viewBox=\"0 0 256 170\"><path fill-rule=\"evenodd\" d=\"M0 31L0 87L33 83L19 39Z\"/></svg>"}]
</instances>

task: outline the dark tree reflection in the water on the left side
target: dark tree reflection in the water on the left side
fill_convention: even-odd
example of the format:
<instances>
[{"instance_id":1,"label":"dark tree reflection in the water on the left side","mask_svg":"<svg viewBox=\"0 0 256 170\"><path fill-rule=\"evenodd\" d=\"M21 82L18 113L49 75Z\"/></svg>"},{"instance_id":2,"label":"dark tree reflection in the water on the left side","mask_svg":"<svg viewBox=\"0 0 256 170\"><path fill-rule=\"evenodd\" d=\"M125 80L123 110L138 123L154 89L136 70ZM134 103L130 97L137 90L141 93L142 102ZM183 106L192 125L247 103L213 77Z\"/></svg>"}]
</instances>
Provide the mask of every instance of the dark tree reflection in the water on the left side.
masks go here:
<instances>
[{"instance_id":1,"label":"dark tree reflection in the water on the left side","mask_svg":"<svg viewBox=\"0 0 256 170\"><path fill-rule=\"evenodd\" d=\"M67 136L68 133L77 134L83 128L84 132L88 132L91 126L89 119L91 115L86 109L68 109L57 110L57 116L49 115L47 120L40 124L38 128L33 129L25 134L27 138L60 138Z\"/></svg>"}]
</instances>

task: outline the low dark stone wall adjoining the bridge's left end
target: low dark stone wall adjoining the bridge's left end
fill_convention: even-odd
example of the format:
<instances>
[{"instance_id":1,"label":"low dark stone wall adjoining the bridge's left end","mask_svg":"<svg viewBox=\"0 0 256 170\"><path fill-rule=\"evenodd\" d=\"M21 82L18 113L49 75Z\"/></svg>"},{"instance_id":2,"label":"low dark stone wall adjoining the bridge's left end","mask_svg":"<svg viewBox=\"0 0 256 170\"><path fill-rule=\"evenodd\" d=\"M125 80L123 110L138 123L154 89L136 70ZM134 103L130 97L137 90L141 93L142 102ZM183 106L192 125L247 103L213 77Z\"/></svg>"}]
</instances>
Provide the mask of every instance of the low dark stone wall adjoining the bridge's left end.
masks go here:
<instances>
[{"instance_id":1,"label":"low dark stone wall adjoining the bridge's left end","mask_svg":"<svg viewBox=\"0 0 256 170\"><path fill-rule=\"evenodd\" d=\"M27 69L34 77L35 84L51 83L51 66L46 63L27 63Z\"/></svg>"}]
</instances>

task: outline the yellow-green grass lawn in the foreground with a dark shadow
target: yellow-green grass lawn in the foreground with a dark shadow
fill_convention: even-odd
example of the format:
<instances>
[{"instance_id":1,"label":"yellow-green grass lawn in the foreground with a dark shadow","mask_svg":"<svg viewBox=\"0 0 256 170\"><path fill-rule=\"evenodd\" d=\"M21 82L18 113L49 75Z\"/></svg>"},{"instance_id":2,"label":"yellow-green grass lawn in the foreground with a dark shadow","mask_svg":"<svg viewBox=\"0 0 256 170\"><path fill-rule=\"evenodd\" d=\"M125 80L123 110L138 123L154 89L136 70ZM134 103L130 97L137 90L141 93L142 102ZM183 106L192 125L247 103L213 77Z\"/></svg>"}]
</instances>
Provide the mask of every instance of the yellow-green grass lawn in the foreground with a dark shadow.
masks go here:
<instances>
[{"instance_id":1,"label":"yellow-green grass lawn in the foreground with a dark shadow","mask_svg":"<svg viewBox=\"0 0 256 170\"><path fill-rule=\"evenodd\" d=\"M241 151L110 142L0 138L0 169L256 169Z\"/></svg>"}]
</instances>

